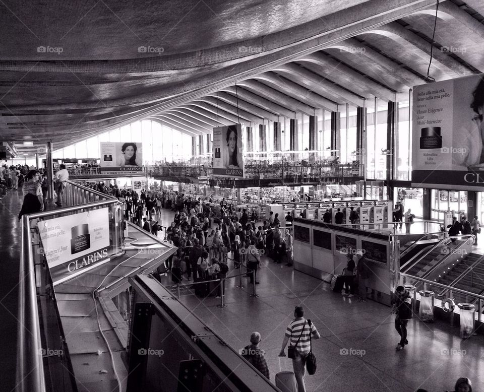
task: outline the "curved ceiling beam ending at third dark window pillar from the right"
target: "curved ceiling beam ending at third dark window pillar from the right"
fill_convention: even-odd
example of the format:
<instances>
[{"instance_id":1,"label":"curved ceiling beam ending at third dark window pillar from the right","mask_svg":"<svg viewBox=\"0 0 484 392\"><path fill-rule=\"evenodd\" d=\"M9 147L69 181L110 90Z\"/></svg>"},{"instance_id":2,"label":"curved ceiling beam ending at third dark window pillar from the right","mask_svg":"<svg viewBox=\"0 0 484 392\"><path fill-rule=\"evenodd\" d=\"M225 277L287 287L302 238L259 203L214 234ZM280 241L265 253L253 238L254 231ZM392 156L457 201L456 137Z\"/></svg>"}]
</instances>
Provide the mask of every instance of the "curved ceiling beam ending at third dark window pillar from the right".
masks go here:
<instances>
[{"instance_id":1,"label":"curved ceiling beam ending at third dark window pillar from the right","mask_svg":"<svg viewBox=\"0 0 484 392\"><path fill-rule=\"evenodd\" d=\"M293 96L297 100L307 103L310 106L322 107L330 111L337 110L336 102L330 101L329 99L273 72L265 72L255 76L253 79L260 80L264 82L264 85L269 85L273 89L281 91L286 95Z\"/></svg>"}]
</instances>

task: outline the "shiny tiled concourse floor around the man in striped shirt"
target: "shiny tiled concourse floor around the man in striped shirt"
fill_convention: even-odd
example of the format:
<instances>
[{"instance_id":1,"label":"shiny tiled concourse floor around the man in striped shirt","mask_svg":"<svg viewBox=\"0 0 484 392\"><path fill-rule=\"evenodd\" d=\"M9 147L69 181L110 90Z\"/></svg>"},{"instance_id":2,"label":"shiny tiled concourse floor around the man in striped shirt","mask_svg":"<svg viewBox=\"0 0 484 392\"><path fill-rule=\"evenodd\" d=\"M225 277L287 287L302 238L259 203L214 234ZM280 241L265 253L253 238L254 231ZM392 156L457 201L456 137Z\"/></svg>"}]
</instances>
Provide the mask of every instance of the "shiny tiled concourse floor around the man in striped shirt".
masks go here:
<instances>
[{"instance_id":1,"label":"shiny tiled concourse floor around the man in striped shirt","mask_svg":"<svg viewBox=\"0 0 484 392\"><path fill-rule=\"evenodd\" d=\"M166 224L170 213L162 216ZM279 366L292 370L290 361L279 361L277 355L294 306L302 304L322 336L314 341L318 370L306 376L308 391L444 391L452 390L461 376L471 379L473 390L484 385L481 335L463 341L458 328L441 321L423 323L415 316L409 322L409 345L396 351L399 336L385 305L333 293L327 283L266 257L258 272L258 298L250 297L249 279L242 280L244 289L235 287L238 278L227 283L225 308L217 307L220 299L201 299L188 291L180 300L233 348L244 347L250 334L259 331L272 381Z\"/></svg>"}]
</instances>

